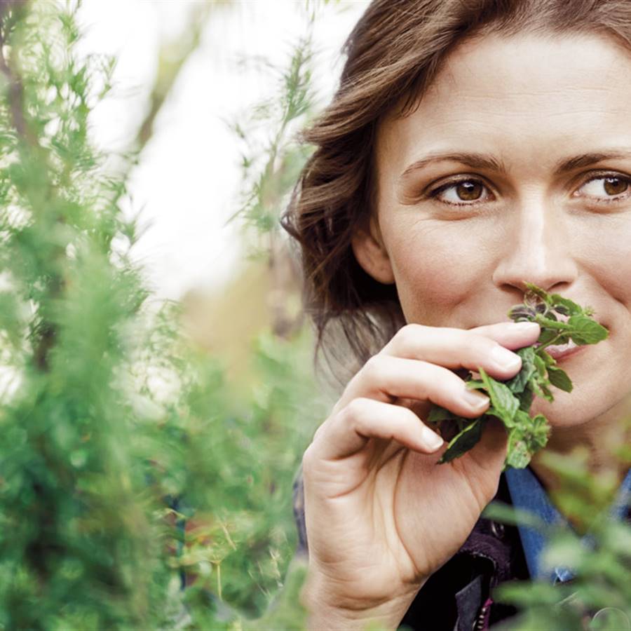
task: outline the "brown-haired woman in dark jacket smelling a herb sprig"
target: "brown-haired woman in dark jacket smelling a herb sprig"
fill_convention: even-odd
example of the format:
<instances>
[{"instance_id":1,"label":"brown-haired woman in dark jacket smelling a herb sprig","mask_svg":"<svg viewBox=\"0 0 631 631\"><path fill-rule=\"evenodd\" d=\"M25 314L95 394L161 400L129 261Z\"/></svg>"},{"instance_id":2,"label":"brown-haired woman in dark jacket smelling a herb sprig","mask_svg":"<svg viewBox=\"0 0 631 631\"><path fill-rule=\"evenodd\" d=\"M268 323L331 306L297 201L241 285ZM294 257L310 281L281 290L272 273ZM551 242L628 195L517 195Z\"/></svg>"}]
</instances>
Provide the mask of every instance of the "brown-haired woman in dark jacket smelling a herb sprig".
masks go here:
<instances>
[{"instance_id":1,"label":"brown-haired woman in dark jacket smelling a herb sprig","mask_svg":"<svg viewBox=\"0 0 631 631\"><path fill-rule=\"evenodd\" d=\"M536 565L516 529L480 519L513 498L506 433L489 426L435 466L445 446L423 419L432 403L487 409L462 369L519 371L513 351L539 329L506 313L529 281L609 329L556 349L574 391L534 403L548 449L583 445L592 470L617 466L609 445L631 401L631 1L375 0L346 53L284 220L321 344L334 348L337 327L360 366L304 454L304 504L297 486L309 624L483 628L512 613L491 588ZM555 488L537 459L530 471Z\"/></svg>"}]
</instances>

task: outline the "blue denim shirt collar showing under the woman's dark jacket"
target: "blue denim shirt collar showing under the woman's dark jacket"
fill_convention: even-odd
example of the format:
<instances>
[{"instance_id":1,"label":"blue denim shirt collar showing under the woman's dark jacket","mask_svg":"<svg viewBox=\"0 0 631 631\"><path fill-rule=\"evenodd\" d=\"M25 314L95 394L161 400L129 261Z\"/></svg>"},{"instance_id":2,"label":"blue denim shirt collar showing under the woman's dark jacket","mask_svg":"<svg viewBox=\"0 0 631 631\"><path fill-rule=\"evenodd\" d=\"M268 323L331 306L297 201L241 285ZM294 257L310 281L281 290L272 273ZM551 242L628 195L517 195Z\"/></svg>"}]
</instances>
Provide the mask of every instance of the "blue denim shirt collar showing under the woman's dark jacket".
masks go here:
<instances>
[{"instance_id":1,"label":"blue denim shirt collar showing under the woman's dark jacket","mask_svg":"<svg viewBox=\"0 0 631 631\"><path fill-rule=\"evenodd\" d=\"M567 520L552 504L545 489L541 486L541 482L529 467L525 469L508 468L505 473L513 506L534 513L546 524L559 524L571 528ZM620 484L616 500L611 505L610 515L613 519L623 520L630 499L631 469L627 472L623 483ZM540 567L541 551L547 543L545 536L527 526L520 525L518 528L531 578L549 578L552 583L562 583L573 577L571 569L560 566L555 567L552 573L547 575ZM585 535L581 541L587 545L588 535Z\"/></svg>"}]
</instances>

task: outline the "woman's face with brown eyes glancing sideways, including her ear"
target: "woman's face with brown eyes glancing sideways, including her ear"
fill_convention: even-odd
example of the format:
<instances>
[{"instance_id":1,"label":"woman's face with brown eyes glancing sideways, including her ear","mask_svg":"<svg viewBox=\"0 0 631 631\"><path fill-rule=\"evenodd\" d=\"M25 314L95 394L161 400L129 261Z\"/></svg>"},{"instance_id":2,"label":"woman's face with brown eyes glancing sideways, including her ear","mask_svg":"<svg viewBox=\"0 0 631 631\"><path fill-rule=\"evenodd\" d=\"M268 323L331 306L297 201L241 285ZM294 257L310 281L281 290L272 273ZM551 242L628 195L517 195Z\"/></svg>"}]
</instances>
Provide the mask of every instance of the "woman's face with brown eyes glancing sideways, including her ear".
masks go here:
<instances>
[{"instance_id":1,"label":"woman's face with brown eyes glancing sideways, including her ear","mask_svg":"<svg viewBox=\"0 0 631 631\"><path fill-rule=\"evenodd\" d=\"M610 331L559 360L574 392L536 412L570 426L626 409L631 53L596 35L464 43L413 114L381 124L376 181L377 221L353 248L409 323L506 321L536 283Z\"/></svg>"}]
</instances>

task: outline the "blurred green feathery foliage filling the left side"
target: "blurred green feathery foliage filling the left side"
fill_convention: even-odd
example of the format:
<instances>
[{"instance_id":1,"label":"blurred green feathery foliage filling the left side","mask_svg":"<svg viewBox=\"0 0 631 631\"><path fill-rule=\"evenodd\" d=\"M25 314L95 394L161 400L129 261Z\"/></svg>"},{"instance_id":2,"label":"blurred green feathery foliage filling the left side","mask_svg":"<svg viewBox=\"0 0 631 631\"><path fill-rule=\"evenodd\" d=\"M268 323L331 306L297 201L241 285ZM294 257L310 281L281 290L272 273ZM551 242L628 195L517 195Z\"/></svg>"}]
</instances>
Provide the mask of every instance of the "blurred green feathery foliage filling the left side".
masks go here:
<instances>
[{"instance_id":1,"label":"blurred green feathery foliage filling the left side","mask_svg":"<svg viewBox=\"0 0 631 631\"><path fill-rule=\"evenodd\" d=\"M90 146L113 62L75 56L58 4L1 12L0 628L243 627L295 545L311 339L259 336L245 393L189 348Z\"/></svg>"}]
</instances>

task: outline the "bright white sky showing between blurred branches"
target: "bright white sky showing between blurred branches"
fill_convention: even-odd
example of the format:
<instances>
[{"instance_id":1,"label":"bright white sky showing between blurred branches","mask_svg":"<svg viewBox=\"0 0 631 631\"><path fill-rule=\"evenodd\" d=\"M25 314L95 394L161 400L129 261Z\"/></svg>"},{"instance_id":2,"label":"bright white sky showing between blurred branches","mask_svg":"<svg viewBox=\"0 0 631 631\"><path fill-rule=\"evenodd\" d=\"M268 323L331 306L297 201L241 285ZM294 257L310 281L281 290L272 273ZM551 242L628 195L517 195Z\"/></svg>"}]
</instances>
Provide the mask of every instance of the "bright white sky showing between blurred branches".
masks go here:
<instances>
[{"instance_id":1,"label":"bright white sky showing between blurred branches","mask_svg":"<svg viewBox=\"0 0 631 631\"><path fill-rule=\"evenodd\" d=\"M128 147L147 107L158 46L182 32L195 0L83 0L83 52L114 54L114 91L94 111L98 146ZM305 0L242 0L216 8L165 102L154 137L130 181L129 212L147 229L135 247L159 297L212 290L240 264L236 210L238 143L226 120L276 92L268 76L246 71L243 57L286 65L306 32ZM341 70L339 50L367 2L342 0L320 8L315 22L315 86L325 102Z\"/></svg>"}]
</instances>

